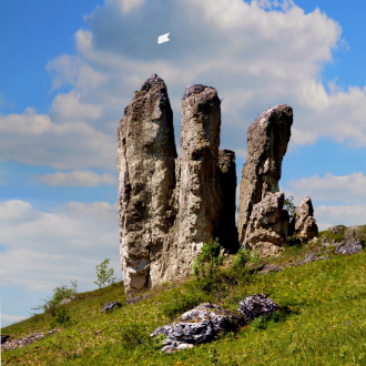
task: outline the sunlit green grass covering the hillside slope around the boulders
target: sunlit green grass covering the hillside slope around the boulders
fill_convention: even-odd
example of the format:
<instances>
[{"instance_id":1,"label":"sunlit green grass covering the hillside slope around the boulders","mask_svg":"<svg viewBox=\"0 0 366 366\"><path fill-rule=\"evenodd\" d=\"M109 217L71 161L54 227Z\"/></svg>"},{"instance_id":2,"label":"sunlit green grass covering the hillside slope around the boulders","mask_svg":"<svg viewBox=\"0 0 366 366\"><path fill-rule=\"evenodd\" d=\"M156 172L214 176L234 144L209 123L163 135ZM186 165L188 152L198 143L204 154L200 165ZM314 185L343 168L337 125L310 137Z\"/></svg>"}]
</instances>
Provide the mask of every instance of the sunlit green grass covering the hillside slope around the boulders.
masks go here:
<instances>
[{"instance_id":1,"label":"sunlit green grass covering the hillside slope around the boulders","mask_svg":"<svg viewBox=\"0 0 366 366\"><path fill-rule=\"evenodd\" d=\"M263 263L304 258L311 247L288 247ZM123 284L83 293L65 305L75 321L23 348L2 352L2 365L366 365L366 254L328 254L283 272L256 276L248 268L222 270L216 277L190 279L151 291L152 297L102 314L106 302L124 303ZM253 265L247 266L253 267ZM253 270L253 268L252 268ZM235 311L251 294L265 293L282 306L270 319L257 319L236 334L171 355L149 334L202 302ZM47 332L43 314L2 329L14 338ZM349 322L349 324L347 324Z\"/></svg>"}]
</instances>

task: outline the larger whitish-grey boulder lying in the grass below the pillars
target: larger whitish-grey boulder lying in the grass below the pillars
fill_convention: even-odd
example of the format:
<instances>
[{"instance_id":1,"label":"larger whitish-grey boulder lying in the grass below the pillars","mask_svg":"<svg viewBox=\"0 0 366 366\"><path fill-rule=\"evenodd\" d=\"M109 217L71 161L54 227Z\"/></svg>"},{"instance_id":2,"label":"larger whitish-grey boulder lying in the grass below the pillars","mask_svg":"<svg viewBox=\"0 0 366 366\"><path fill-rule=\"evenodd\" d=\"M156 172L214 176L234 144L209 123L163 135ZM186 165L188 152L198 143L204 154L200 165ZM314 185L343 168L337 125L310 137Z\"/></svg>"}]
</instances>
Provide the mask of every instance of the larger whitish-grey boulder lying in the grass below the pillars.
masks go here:
<instances>
[{"instance_id":1,"label":"larger whitish-grey boulder lying in the grass below the pillars","mask_svg":"<svg viewBox=\"0 0 366 366\"><path fill-rule=\"evenodd\" d=\"M204 303L184 313L174 323L159 327L151 336L165 335L162 352L172 353L211 342L220 332L234 331L240 323L236 314Z\"/></svg>"}]
</instances>

